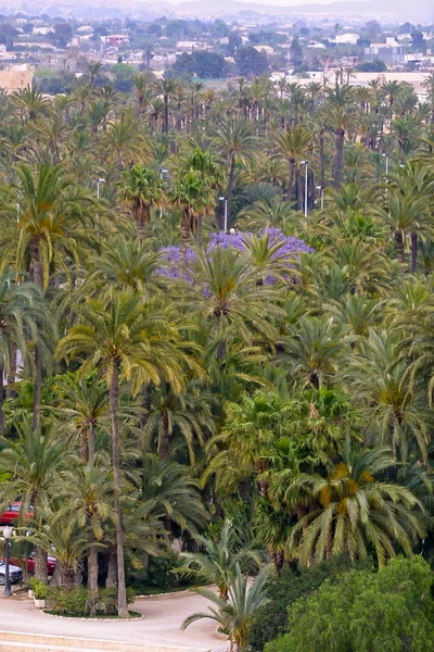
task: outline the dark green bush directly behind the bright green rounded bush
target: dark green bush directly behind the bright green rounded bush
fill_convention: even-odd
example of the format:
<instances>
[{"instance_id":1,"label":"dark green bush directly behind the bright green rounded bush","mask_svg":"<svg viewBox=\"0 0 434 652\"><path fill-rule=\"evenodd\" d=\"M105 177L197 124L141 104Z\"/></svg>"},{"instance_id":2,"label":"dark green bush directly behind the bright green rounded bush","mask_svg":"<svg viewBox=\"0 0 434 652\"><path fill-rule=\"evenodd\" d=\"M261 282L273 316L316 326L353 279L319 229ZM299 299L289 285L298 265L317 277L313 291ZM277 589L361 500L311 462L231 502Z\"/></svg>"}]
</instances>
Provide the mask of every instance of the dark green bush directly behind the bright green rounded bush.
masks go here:
<instances>
[{"instance_id":1,"label":"dark green bush directly behind the bright green rounded bush","mask_svg":"<svg viewBox=\"0 0 434 652\"><path fill-rule=\"evenodd\" d=\"M267 642L286 631L288 607L293 602L309 597L326 579L333 580L352 567L369 568L371 565L370 560L352 564L346 556L336 556L312 568L296 572L283 568L279 576L270 579L267 588L269 602L260 607L252 623L248 636L252 652L261 652Z\"/></svg>"}]
</instances>

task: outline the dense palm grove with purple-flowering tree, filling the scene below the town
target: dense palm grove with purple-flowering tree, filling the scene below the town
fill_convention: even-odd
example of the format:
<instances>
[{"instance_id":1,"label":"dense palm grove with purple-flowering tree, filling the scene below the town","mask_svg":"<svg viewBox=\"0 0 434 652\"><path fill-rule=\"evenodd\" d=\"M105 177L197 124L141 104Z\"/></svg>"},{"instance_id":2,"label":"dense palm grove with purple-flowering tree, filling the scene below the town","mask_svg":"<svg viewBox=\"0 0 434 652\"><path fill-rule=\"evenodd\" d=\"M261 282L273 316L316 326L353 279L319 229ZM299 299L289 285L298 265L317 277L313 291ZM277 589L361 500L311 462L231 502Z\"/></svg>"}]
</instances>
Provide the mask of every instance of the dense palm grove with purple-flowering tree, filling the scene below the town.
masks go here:
<instances>
[{"instance_id":1,"label":"dense palm grove with purple-flowering tree, filling the scene below the town","mask_svg":"<svg viewBox=\"0 0 434 652\"><path fill-rule=\"evenodd\" d=\"M33 505L39 579L54 547L67 590L86 569L125 616L126 574L181 538L241 649L232 602L267 560L431 561L426 90L122 95L89 67L0 96L0 497ZM216 576L197 550L224 540Z\"/></svg>"}]
</instances>

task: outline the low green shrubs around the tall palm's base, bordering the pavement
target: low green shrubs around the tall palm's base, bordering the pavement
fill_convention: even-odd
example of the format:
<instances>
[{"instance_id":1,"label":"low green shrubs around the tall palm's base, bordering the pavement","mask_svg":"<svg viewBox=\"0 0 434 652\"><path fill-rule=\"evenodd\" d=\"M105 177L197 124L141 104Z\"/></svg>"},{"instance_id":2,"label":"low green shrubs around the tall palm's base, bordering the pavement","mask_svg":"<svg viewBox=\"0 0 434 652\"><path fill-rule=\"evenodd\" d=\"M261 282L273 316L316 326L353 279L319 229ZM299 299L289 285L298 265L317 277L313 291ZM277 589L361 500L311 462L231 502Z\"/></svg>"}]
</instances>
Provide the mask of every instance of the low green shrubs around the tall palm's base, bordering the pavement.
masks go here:
<instances>
[{"instance_id":1,"label":"low green shrubs around the tall palm's base, bordering the pavement","mask_svg":"<svg viewBox=\"0 0 434 652\"><path fill-rule=\"evenodd\" d=\"M127 589L128 604L135 601L135 591ZM56 614L68 616L116 616L117 588L101 589L92 593L85 587L71 590L50 588L48 591L47 609Z\"/></svg>"}]
</instances>

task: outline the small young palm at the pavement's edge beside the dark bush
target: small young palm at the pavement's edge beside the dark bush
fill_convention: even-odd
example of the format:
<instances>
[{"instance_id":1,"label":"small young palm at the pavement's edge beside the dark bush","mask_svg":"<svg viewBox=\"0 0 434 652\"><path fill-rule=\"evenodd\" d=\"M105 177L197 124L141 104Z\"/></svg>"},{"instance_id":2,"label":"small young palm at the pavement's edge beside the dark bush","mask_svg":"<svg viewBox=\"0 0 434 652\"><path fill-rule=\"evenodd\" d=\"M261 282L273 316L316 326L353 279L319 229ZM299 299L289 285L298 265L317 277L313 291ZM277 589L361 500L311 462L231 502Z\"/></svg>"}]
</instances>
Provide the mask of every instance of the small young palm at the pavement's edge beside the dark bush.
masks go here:
<instances>
[{"instance_id":1,"label":"small young palm at the pavement's edge beside the dark bush","mask_svg":"<svg viewBox=\"0 0 434 652\"><path fill-rule=\"evenodd\" d=\"M195 592L209 600L214 606L209 607L208 613L196 613L186 618L181 629L186 629L202 618L210 618L219 625L219 628L228 632L231 652L242 652L247 642L253 618L257 611L268 602L266 585L270 573L271 566L265 566L253 585L248 586L248 577L243 576L240 566L237 565L234 577L229 586L227 602L209 589L196 589Z\"/></svg>"}]
</instances>

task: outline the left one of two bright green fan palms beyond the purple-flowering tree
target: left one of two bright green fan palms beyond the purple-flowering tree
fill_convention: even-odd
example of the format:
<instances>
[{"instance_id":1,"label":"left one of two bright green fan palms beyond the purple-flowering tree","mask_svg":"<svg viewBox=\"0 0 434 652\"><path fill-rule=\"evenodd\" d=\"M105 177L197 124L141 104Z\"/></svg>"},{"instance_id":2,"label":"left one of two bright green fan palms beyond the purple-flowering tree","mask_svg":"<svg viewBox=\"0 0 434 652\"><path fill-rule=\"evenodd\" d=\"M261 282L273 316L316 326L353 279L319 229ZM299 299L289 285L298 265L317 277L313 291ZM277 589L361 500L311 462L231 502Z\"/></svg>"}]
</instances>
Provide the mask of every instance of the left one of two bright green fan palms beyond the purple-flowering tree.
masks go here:
<instances>
[{"instance_id":1,"label":"left one of two bright green fan palms beyond the purple-flowering tree","mask_svg":"<svg viewBox=\"0 0 434 652\"><path fill-rule=\"evenodd\" d=\"M139 241L143 243L145 226L151 221L151 209L163 203L163 180L156 170L137 163L123 172L119 196L131 208Z\"/></svg>"}]
</instances>

